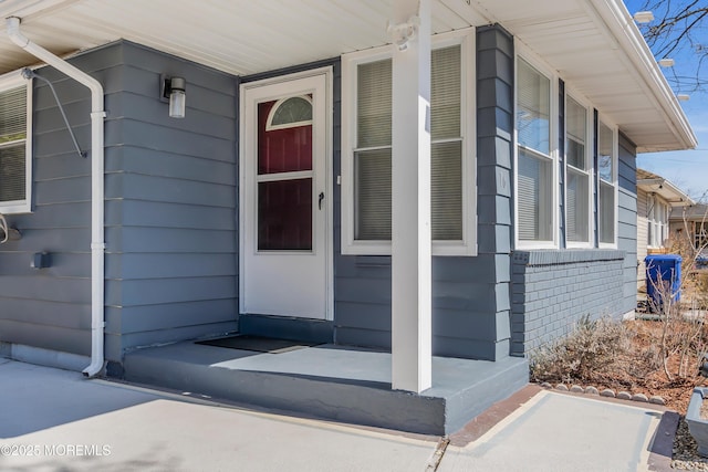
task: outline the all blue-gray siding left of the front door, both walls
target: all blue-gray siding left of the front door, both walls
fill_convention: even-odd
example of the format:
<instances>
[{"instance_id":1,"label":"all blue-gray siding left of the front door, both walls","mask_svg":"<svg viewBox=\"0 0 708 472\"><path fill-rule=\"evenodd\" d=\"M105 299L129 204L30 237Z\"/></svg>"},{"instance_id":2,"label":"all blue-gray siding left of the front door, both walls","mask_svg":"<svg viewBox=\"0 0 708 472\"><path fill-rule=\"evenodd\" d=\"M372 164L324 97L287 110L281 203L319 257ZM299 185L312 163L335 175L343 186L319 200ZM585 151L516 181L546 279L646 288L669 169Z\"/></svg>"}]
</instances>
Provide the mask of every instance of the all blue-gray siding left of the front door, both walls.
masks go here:
<instances>
[{"instance_id":1,"label":"all blue-gray siding left of the front door, both walls","mask_svg":"<svg viewBox=\"0 0 708 472\"><path fill-rule=\"evenodd\" d=\"M71 60L105 88L106 357L236 329L237 80L117 42ZM51 67L90 150L90 94ZM159 101L159 74L184 76L185 119ZM49 88L34 84L34 209L0 248L0 342L91 350L91 159L73 150ZM52 266L30 269L34 252Z\"/></svg>"}]
</instances>

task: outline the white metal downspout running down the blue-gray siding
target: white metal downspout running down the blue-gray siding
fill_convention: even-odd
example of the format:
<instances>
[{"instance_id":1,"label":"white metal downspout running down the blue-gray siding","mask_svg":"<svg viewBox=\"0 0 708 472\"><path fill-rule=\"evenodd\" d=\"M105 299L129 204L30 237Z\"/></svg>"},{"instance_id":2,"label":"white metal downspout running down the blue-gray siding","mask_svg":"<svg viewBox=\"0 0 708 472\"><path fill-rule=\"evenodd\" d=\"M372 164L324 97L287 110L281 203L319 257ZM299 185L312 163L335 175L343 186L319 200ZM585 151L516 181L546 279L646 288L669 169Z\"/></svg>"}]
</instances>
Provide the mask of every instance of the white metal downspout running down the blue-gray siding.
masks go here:
<instances>
[{"instance_id":1,"label":"white metal downspout running down the blue-gray siding","mask_svg":"<svg viewBox=\"0 0 708 472\"><path fill-rule=\"evenodd\" d=\"M103 109L103 86L91 75L22 35L19 18L8 18L6 27L13 43L91 90L91 365L83 374L94 377L104 364L103 120L106 114Z\"/></svg>"}]
</instances>

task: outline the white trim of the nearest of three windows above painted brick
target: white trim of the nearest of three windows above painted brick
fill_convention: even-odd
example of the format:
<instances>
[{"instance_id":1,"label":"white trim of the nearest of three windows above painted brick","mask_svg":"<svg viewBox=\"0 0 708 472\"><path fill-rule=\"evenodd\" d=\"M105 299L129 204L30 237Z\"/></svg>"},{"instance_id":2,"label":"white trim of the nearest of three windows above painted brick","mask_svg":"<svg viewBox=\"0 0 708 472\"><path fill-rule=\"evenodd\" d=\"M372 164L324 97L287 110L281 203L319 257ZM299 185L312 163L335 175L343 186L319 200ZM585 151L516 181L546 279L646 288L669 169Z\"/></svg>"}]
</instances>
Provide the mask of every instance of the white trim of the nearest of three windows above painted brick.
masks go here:
<instances>
[{"instance_id":1,"label":"white trim of the nearest of three windows above painted brick","mask_svg":"<svg viewBox=\"0 0 708 472\"><path fill-rule=\"evenodd\" d=\"M514 57L514 84L518 83L518 71L519 71L519 66L518 66L518 62L519 59L528 62L531 66L533 66L535 70L538 70L541 74L543 74L549 81L550 81L550 91L549 93L551 94L551 103L550 103L550 109L549 109L549 128L550 128L550 136L549 139L551 140L549 144L549 157L548 159L551 161L551 168L552 168L552 188L553 191L551 192L551 228L552 228L552 233L553 233L553 239L551 241L524 241L524 240L520 240L519 239L519 220L518 220L518 216L519 216L519 179L518 179L518 175L517 175L517 170L519 169L519 133L517 129L517 103L518 103L518 97L517 97L517 87L514 86L513 90L513 168L514 168L514 176L513 176L513 214L514 214L514 224L513 224L513 232L514 232L514 247L517 249L559 249L559 149L558 149L558 143L559 143L559 129L558 129L558 117L559 117L559 101L558 101L558 95L559 95L559 87L558 87L558 81L559 81L559 76L558 74L555 74L553 72L553 70L545 64L545 62L543 62L537 54L534 54L533 52L531 52L531 50L529 50L523 43L521 43L520 41L516 40L514 41L514 49L517 52L517 55ZM532 151L534 155L539 155L538 151L535 151L534 149L529 149L530 151Z\"/></svg>"}]
</instances>

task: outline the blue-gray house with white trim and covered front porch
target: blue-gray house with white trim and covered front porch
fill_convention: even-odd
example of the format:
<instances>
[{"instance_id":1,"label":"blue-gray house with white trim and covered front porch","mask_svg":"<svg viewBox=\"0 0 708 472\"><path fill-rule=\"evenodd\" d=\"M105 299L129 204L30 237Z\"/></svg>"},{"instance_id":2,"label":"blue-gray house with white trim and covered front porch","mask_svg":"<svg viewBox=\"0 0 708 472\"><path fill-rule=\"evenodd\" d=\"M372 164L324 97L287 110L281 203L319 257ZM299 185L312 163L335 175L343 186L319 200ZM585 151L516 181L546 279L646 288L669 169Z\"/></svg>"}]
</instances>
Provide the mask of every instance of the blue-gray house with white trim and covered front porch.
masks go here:
<instances>
[{"instance_id":1,"label":"blue-gray house with white trim and covered front porch","mask_svg":"<svg viewBox=\"0 0 708 472\"><path fill-rule=\"evenodd\" d=\"M0 245L0 352L87 376L135 379L144 347L233 332L337 345L312 350L342 370L365 346L391 361L344 382L251 367L229 395L449 432L580 317L633 312L636 154L696 145L618 0L0 12L22 19L0 34L0 212L21 233ZM392 390L420 409L391 413Z\"/></svg>"}]
</instances>

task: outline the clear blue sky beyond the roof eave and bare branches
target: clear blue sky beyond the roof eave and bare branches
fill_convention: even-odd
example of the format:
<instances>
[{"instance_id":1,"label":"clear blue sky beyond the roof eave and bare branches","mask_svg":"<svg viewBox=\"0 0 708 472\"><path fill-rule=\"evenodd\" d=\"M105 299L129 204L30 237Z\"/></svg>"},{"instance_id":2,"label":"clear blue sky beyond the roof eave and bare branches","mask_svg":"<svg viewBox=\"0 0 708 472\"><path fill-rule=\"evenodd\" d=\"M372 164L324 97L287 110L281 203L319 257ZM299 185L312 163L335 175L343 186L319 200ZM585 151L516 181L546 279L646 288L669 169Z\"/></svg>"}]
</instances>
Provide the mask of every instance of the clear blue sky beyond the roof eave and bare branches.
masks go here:
<instances>
[{"instance_id":1,"label":"clear blue sky beyond the roof eave and bare branches","mask_svg":"<svg viewBox=\"0 0 708 472\"><path fill-rule=\"evenodd\" d=\"M634 14L642 10L645 0L625 0L627 10ZM697 30L700 34L700 43L708 45L708 22ZM683 51L674 56L676 73L679 75L695 74L698 57L689 51ZM708 74L708 67L704 67L704 75ZM708 82L708 76L704 77ZM695 200L708 191L708 91L691 92L690 99L680 102L684 113L698 138L696 149L648 153L637 156L637 166L670 180L678 188L687 192ZM704 202L708 195L704 197Z\"/></svg>"}]
</instances>

